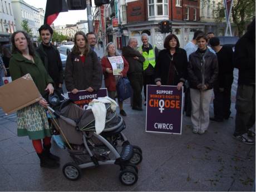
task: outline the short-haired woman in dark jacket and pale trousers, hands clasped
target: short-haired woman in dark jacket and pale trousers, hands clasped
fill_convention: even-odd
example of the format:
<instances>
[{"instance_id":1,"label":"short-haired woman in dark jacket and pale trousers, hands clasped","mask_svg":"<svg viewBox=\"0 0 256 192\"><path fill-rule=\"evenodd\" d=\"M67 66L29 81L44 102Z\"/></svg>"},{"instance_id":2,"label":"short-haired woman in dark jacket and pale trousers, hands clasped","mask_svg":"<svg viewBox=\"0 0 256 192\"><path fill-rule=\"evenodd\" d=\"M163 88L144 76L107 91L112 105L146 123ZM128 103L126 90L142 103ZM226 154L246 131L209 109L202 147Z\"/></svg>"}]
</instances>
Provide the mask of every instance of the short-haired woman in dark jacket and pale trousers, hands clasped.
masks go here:
<instances>
[{"instance_id":1,"label":"short-haired woman in dark jacket and pale trousers, hands clasped","mask_svg":"<svg viewBox=\"0 0 256 192\"><path fill-rule=\"evenodd\" d=\"M213 85L218 78L218 58L207 48L204 33L196 37L198 50L189 56L188 77L191 96L193 132L204 134L209 125L209 107Z\"/></svg>"}]
</instances>

